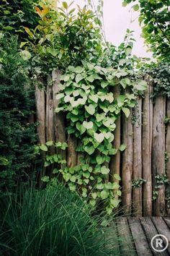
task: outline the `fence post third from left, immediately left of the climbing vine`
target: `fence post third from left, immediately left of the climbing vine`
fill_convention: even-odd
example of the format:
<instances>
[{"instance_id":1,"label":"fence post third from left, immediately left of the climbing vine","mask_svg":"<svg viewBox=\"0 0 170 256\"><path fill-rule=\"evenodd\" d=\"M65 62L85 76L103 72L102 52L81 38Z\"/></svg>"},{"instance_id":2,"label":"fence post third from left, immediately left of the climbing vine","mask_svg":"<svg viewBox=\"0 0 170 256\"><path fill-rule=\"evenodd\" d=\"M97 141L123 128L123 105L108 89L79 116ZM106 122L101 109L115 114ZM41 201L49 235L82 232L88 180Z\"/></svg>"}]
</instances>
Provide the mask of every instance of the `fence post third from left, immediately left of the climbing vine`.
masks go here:
<instances>
[{"instance_id":1,"label":"fence post third from left, immediately left of the climbing vine","mask_svg":"<svg viewBox=\"0 0 170 256\"><path fill-rule=\"evenodd\" d=\"M58 70L53 70L52 78L54 81L53 84L53 108L58 107L59 101L55 98L56 93L59 91L59 77L60 72ZM66 127L65 127L65 116L63 113L54 113L54 129L55 129L55 142L66 142ZM60 153L63 156L63 159L66 160L66 150L57 150L57 153Z\"/></svg>"}]
</instances>

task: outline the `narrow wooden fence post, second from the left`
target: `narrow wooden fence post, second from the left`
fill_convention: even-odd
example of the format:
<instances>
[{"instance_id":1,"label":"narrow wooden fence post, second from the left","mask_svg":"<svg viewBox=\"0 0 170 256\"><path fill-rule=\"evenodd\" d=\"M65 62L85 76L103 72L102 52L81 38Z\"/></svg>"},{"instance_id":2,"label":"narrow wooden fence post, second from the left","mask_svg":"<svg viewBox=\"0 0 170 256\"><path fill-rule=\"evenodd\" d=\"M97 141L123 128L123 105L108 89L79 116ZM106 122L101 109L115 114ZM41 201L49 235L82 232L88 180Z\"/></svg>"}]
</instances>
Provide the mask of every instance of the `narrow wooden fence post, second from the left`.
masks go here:
<instances>
[{"instance_id":1,"label":"narrow wooden fence post, second from the left","mask_svg":"<svg viewBox=\"0 0 170 256\"><path fill-rule=\"evenodd\" d=\"M46 140L54 141L54 108L53 108L53 87L50 85L51 77L48 76L48 85L46 93L46 116L45 116L45 134ZM50 153L55 153L55 148L49 148Z\"/></svg>"}]
</instances>

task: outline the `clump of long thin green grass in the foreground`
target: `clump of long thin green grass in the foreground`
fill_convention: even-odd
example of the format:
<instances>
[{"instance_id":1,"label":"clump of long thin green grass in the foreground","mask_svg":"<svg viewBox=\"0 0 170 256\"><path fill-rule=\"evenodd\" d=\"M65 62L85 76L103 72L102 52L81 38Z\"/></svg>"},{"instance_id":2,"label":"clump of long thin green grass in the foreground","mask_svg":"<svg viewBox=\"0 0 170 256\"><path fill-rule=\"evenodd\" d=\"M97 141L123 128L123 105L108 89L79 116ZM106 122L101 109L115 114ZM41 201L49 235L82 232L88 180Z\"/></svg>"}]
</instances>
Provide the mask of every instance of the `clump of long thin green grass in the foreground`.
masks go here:
<instances>
[{"instance_id":1,"label":"clump of long thin green grass in the foreground","mask_svg":"<svg viewBox=\"0 0 170 256\"><path fill-rule=\"evenodd\" d=\"M2 255L119 255L115 234L105 247L104 230L81 198L66 187L22 190L20 197L5 197L2 203Z\"/></svg>"}]
</instances>

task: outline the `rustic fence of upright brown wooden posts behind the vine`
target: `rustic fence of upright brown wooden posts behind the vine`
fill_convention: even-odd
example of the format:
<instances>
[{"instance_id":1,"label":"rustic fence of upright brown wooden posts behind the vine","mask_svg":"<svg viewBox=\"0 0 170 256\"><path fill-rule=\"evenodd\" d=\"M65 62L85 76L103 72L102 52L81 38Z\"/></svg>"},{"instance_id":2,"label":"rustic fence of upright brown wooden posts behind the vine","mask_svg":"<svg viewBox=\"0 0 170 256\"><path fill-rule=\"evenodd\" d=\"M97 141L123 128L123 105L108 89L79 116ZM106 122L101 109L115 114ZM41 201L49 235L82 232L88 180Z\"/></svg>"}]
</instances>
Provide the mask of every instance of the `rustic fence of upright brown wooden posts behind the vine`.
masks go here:
<instances>
[{"instance_id":1,"label":"rustic fence of upright brown wooden posts behind the vine","mask_svg":"<svg viewBox=\"0 0 170 256\"><path fill-rule=\"evenodd\" d=\"M68 166L79 164L80 153L76 152L79 142L73 135L66 135L66 120L63 114L55 114L58 106L55 93L58 92L59 72L55 71L48 80L55 80L53 87L47 85L46 91L35 90L37 104L37 127L40 143L45 141L68 142L68 149L63 153ZM138 98L138 105L131 111L130 117L122 114L117 119L114 144L116 148L122 143L127 145L123 153L113 155L109 163L110 176L120 174L122 181L122 206L125 212L133 216L164 216L170 211L166 205L166 187L157 189L158 195L153 201L156 190L156 176L165 173L165 151L170 156L170 126L165 127L165 116L170 116L170 102L163 96L151 100L153 91L149 77L146 77L148 89L143 98ZM115 97L118 94L115 91ZM133 120L133 121L132 121ZM170 181L170 161L166 164ZM144 179L140 187L132 187L133 181Z\"/></svg>"}]
</instances>

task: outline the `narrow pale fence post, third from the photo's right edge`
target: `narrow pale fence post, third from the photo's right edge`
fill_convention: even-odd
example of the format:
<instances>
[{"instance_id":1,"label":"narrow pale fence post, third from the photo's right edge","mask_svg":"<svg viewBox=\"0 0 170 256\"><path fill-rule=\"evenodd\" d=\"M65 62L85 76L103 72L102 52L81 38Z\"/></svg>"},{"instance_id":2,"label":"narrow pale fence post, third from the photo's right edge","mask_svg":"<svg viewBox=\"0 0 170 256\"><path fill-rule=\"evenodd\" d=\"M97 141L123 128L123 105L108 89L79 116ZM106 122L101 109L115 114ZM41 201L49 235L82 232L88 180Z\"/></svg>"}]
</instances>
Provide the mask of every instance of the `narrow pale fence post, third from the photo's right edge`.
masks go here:
<instances>
[{"instance_id":1,"label":"narrow pale fence post, third from the photo's right edge","mask_svg":"<svg viewBox=\"0 0 170 256\"><path fill-rule=\"evenodd\" d=\"M152 168L151 168L151 147L152 147L152 127L153 127L153 103L151 101L152 85L149 77L146 77L148 88L143 98L143 216L152 216Z\"/></svg>"}]
</instances>

